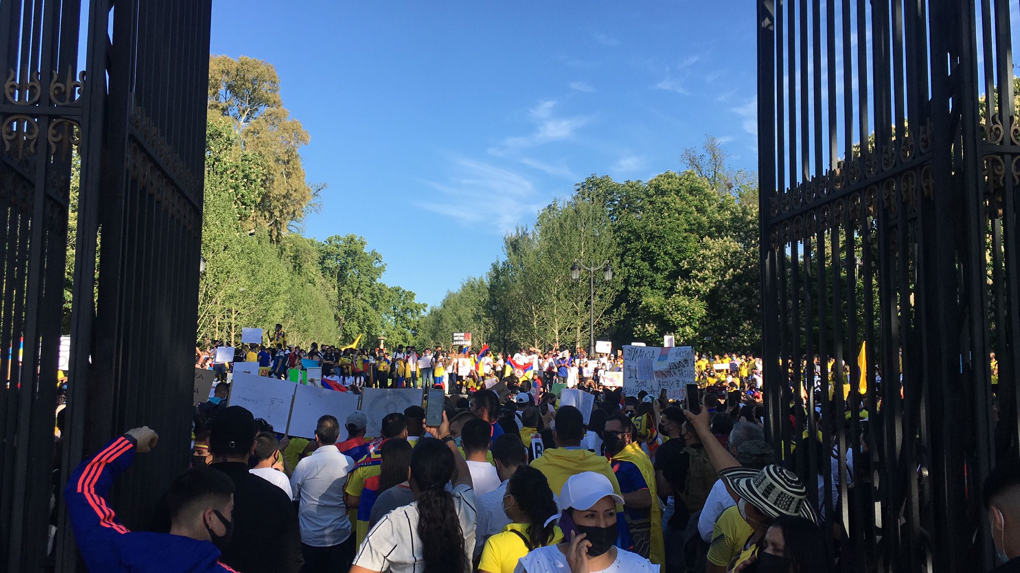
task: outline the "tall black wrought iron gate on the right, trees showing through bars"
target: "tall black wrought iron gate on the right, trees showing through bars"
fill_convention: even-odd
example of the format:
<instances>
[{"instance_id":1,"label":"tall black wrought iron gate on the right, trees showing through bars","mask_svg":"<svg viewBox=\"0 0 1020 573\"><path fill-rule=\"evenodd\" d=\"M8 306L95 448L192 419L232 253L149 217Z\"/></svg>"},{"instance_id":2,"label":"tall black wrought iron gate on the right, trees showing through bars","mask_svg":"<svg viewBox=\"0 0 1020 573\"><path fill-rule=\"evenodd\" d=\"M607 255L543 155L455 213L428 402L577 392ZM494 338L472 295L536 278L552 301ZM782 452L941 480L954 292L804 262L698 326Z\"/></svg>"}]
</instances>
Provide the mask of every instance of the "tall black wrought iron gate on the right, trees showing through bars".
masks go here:
<instances>
[{"instance_id":1,"label":"tall black wrought iron gate on the right, trees showing through bars","mask_svg":"<svg viewBox=\"0 0 1020 573\"><path fill-rule=\"evenodd\" d=\"M772 442L844 570L987 570L981 482L1020 451L1009 2L756 4Z\"/></svg>"}]
</instances>

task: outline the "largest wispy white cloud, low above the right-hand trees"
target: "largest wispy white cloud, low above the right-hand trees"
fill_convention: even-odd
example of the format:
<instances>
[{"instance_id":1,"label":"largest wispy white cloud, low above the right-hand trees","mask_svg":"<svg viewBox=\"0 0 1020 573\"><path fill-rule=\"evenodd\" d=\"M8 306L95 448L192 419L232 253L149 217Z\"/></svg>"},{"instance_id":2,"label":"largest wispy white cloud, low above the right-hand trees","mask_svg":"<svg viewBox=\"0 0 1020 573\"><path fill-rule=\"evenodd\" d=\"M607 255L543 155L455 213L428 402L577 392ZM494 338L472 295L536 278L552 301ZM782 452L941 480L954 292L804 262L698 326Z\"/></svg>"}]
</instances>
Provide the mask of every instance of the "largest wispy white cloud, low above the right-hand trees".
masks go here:
<instances>
[{"instance_id":1,"label":"largest wispy white cloud, low above the right-hand trees","mask_svg":"<svg viewBox=\"0 0 1020 573\"><path fill-rule=\"evenodd\" d=\"M419 202L422 209L497 233L512 230L543 205L531 179L465 157L452 158L447 180L422 183L438 192ZM481 202L487 208L475 209L474 205Z\"/></svg>"}]
</instances>

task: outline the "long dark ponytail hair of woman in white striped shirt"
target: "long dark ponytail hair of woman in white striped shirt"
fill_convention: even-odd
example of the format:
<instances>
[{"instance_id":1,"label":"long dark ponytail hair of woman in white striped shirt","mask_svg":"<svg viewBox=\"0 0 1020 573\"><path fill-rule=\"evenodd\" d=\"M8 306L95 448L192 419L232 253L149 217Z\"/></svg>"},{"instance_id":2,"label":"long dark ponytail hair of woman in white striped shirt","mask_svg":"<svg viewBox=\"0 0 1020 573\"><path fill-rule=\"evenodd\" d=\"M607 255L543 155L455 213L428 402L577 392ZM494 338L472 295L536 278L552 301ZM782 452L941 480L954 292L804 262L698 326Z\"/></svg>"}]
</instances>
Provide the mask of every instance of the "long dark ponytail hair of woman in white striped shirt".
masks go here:
<instances>
[{"instance_id":1,"label":"long dark ponytail hair of woman in white striped shirt","mask_svg":"<svg viewBox=\"0 0 1020 573\"><path fill-rule=\"evenodd\" d=\"M438 439L421 439L411 452L424 573L461 573L470 566L457 508L446 490L455 468L453 453Z\"/></svg>"}]
</instances>

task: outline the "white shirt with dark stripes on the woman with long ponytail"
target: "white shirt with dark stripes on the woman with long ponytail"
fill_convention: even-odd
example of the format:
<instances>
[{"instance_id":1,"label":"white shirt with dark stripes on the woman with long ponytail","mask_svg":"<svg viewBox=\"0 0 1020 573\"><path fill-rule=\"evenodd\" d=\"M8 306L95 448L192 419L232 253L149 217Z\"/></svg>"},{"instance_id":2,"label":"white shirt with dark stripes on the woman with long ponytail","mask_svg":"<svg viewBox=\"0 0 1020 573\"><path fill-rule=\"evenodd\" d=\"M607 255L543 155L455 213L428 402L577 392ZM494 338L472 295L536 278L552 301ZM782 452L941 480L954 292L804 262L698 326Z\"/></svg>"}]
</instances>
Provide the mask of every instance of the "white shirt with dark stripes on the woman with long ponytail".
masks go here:
<instances>
[{"instance_id":1,"label":"white shirt with dark stripes on the woman with long ponytail","mask_svg":"<svg viewBox=\"0 0 1020 573\"><path fill-rule=\"evenodd\" d=\"M464 559L467 563L464 573L468 573L471 567L477 518L475 503L474 490L470 485L462 483L453 488L453 504L457 509L460 529L464 532ZM421 569L418 564L422 559L421 538L418 536L418 503L414 502L386 514L368 531L354 558L354 565L371 571L389 569L391 573L414 573Z\"/></svg>"}]
</instances>

